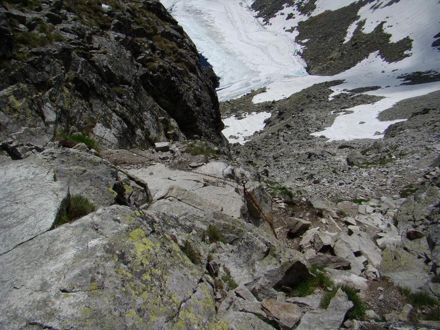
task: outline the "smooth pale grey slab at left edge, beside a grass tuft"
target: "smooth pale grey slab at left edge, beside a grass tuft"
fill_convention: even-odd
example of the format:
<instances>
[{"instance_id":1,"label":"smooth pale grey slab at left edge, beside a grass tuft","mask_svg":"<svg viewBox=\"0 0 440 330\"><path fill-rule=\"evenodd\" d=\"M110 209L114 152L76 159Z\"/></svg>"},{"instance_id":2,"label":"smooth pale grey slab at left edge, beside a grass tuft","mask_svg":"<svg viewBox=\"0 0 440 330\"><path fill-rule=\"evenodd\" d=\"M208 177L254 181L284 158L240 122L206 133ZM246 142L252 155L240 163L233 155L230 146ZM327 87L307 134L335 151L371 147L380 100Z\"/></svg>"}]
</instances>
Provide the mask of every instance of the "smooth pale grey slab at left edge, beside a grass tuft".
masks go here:
<instances>
[{"instance_id":1,"label":"smooth pale grey slab at left edge, beside a grass tuft","mask_svg":"<svg viewBox=\"0 0 440 330\"><path fill-rule=\"evenodd\" d=\"M0 254L53 227L69 189L40 159L0 164Z\"/></svg>"}]
</instances>

